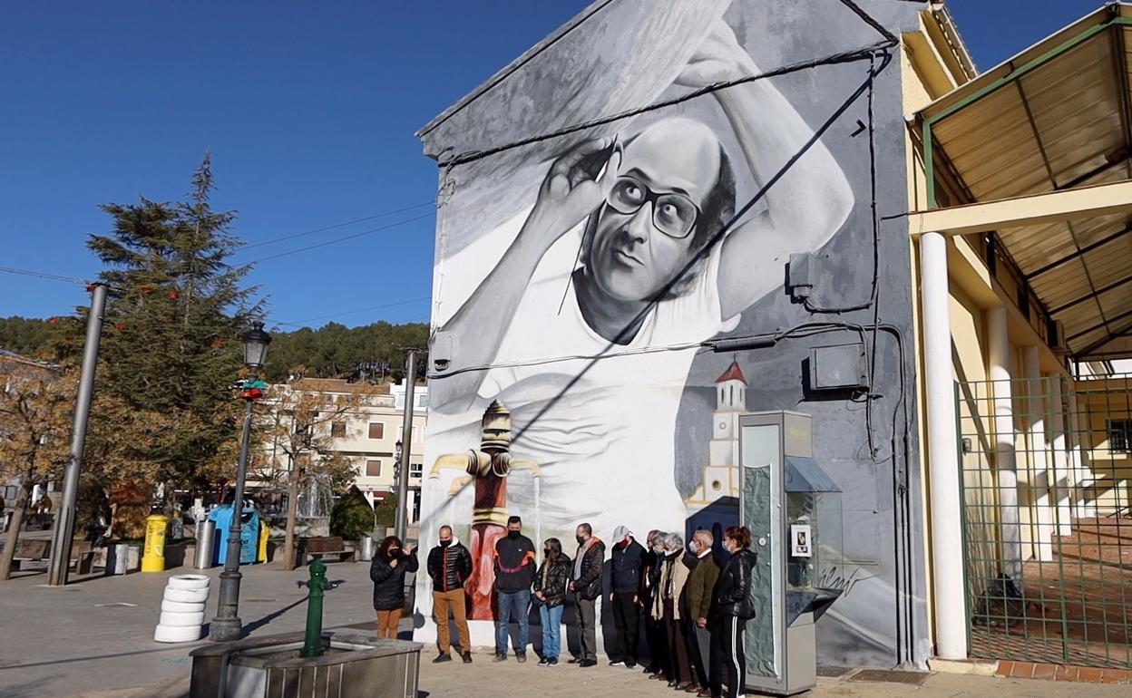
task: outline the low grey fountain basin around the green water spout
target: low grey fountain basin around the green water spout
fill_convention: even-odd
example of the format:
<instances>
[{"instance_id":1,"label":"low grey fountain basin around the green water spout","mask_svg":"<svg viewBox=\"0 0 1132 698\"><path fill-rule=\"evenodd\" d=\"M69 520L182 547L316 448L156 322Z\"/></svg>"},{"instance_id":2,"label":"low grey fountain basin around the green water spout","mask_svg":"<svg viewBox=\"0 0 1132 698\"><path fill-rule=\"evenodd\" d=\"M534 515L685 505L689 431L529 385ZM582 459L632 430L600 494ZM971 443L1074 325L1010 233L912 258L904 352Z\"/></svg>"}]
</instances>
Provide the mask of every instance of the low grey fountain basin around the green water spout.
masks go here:
<instances>
[{"instance_id":1,"label":"low grey fountain basin around the green water spout","mask_svg":"<svg viewBox=\"0 0 1132 698\"><path fill-rule=\"evenodd\" d=\"M302 658L303 634L198 647L190 698L417 698L423 645L324 632L326 653Z\"/></svg>"}]
</instances>

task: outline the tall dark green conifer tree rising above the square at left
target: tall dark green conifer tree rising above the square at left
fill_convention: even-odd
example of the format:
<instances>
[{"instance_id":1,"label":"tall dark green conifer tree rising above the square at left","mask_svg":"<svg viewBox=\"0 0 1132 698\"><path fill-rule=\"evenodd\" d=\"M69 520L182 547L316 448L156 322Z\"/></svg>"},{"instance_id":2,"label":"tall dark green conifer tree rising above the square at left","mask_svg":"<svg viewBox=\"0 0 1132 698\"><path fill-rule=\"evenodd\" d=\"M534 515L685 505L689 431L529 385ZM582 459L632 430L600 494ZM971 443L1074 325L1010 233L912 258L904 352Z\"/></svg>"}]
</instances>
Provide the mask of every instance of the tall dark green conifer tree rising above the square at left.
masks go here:
<instances>
[{"instance_id":1,"label":"tall dark green conifer tree rising above the square at left","mask_svg":"<svg viewBox=\"0 0 1132 698\"><path fill-rule=\"evenodd\" d=\"M87 241L113 290L88 448L113 479L185 486L234 471L239 336L260 308L249 267L231 262L235 213L213 210L212 191L206 153L188 200L105 204L112 232Z\"/></svg>"}]
</instances>

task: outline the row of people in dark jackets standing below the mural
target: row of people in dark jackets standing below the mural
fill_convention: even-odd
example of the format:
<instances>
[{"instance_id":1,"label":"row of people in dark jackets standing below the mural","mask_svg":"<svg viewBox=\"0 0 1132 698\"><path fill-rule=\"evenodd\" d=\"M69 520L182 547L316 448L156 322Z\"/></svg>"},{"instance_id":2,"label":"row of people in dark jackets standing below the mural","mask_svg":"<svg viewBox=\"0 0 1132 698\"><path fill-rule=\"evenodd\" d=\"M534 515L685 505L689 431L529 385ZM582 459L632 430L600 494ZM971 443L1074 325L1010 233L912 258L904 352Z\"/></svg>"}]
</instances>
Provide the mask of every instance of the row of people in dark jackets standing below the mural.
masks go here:
<instances>
[{"instance_id":1,"label":"row of people in dark jackets standing below the mural","mask_svg":"<svg viewBox=\"0 0 1132 698\"><path fill-rule=\"evenodd\" d=\"M496 662L509 658L512 620L518 627L518 639L513 647L515 660L526 661L533 603L542 629L539 666L557 665L563 610L567 598L573 597L580 644L567 663L594 666L597 606L599 597L606 594L603 603L611 605L616 626L615 637L607 643L610 665L632 669L646 656L644 672L649 678L667 681L674 689L714 698L724 695L726 684L727 696L743 695L744 627L754 618L752 580L756 559L746 527L731 526L724 532L724 562L709 531L696 531L687 546L677 533L651 531L642 545L632 531L618 526L609 549L608 580L603 579L606 543L593 535L590 524L577 526L575 540L573 559L563 551L558 538L542 542L540 559L534 543L523 535L520 517L508 519L507 533L496 542L494 551ZM381 543L370 571L380 637L396 637L396 621L404 606L404 575L417 568L411 545L403 545L396 538ZM432 580L439 647L434 662L452 661L451 613L461 658L470 663L464 585L472 575L472 555L451 526L440 527L439 544L429 551L427 571ZM642 639L646 654L640 652Z\"/></svg>"}]
</instances>

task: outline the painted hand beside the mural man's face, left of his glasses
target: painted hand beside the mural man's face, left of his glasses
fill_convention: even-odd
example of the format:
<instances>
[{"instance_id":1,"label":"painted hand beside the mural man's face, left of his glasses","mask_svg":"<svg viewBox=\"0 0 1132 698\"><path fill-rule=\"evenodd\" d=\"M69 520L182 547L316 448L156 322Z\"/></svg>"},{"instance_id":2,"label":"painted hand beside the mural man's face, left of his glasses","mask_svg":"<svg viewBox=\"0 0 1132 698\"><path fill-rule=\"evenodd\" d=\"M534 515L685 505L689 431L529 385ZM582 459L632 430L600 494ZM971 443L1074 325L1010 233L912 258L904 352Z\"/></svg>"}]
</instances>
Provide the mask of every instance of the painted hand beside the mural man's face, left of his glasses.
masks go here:
<instances>
[{"instance_id":1,"label":"painted hand beside the mural man's face, left of his glasses","mask_svg":"<svg viewBox=\"0 0 1132 698\"><path fill-rule=\"evenodd\" d=\"M561 155L542 181L524 233L533 233L543 244L554 244L601 205L620 164L616 136L581 143ZM535 230L528 231L532 222Z\"/></svg>"}]
</instances>

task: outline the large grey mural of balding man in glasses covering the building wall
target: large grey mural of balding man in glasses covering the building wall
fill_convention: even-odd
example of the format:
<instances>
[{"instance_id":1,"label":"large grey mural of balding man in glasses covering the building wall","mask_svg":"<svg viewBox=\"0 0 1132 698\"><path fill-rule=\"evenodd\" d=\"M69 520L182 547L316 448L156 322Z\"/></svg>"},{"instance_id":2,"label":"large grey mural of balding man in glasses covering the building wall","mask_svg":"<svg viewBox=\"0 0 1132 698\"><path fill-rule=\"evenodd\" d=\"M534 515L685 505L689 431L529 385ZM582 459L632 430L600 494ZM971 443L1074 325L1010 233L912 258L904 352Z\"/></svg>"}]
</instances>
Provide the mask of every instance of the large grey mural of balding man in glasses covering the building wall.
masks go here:
<instances>
[{"instance_id":1,"label":"large grey mural of balding man in glasses covering the building wall","mask_svg":"<svg viewBox=\"0 0 1132 698\"><path fill-rule=\"evenodd\" d=\"M875 206L906 202L902 171L874 198L873 133L857 138L872 112L864 98L847 103L871 63L754 79L877 41L849 12L825 14L835 32L814 29L816 7L847 12L837 0L595 2L422 132L427 152L447 162L422 533L471 527L481 561L474 618L490 618L490 552L508 514L540 540L571 540L582 522L608 537L618 525L684 533L737 516L743 412L814 414L815 438L835 441L815 445L815 457L834 464L826 469L849 493L847 508L893 510L875 501L877 472L891 463L878 464L876 450L861 456L864 411L847 410L844 395L800 404L809 335L736 355L705 348L812 317L786 293L791 255L825 260L815 266L827 278L811 284L834 304L867 294L874 272L887 292L910 286L906 230L892 233L902 245L894 261L872 268ZM885 11L893 23L915 18ZM885 147L902 167L899 76L892 81ZM602 119L625 111L637 113ZM827 121L835 128L820 135ZM885 320L910 328L909 312ZM876 371L887 400L876 408L890 416L907 388L891 348ZM880 519L868 520L875 537ZM866 627L877 603L897 603L895 562L869 554L857 555L864 569L822 572L858 589L876 580L868 598L855 591L834 606L846 606L850 628L833 653L846 661L891 655L899 635Z\"/></svg>"}]
</instances>

